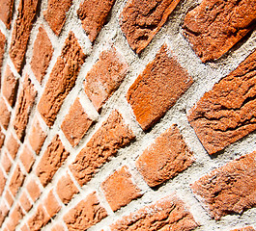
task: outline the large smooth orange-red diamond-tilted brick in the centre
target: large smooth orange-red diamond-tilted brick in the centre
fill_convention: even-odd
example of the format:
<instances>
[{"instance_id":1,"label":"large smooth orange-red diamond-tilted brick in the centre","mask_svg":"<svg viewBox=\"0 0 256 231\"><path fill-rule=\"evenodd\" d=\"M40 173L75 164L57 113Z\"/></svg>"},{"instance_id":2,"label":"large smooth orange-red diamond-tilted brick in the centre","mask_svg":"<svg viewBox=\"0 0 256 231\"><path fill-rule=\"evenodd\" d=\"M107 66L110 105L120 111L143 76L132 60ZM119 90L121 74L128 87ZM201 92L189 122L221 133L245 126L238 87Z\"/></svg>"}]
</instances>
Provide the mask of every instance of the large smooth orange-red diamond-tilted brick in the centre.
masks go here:
<instances>
[{"instance_id":1,"label":"large smooth orange-red diamond-tilted brick in the centre","mask_svg":"<svg viewBox=\"0 0 256 231\"><path fill-rule=\"evenodd\" d=\"M155 125L192 83L167 45L162 45L155 60L146 66L127 93L128 103L141 128L147 130Z\"/></svg>"}]
</instances>

